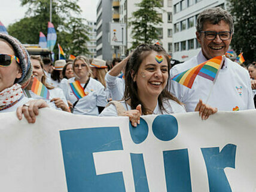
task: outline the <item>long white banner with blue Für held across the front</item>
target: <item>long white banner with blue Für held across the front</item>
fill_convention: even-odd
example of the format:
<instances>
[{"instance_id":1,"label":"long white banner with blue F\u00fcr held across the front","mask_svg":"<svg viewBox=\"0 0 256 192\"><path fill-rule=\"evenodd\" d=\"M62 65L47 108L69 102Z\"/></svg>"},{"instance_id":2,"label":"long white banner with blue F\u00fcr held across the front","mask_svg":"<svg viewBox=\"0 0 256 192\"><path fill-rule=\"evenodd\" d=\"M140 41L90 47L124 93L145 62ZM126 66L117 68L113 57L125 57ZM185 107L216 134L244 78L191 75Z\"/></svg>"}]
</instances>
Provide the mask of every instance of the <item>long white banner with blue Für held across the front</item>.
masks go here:
<instances>
[{"instance_id":1,"label":"long white banner with blue F\u00fcr held across the front","mask_svg":"<svg viewBox=\"0 0 256 192\"><path fill-rule=\"evenodd\" d=\"M0 191L256 191L256 110L127 117L0 114Z\"/></svg>"}]
</instances>

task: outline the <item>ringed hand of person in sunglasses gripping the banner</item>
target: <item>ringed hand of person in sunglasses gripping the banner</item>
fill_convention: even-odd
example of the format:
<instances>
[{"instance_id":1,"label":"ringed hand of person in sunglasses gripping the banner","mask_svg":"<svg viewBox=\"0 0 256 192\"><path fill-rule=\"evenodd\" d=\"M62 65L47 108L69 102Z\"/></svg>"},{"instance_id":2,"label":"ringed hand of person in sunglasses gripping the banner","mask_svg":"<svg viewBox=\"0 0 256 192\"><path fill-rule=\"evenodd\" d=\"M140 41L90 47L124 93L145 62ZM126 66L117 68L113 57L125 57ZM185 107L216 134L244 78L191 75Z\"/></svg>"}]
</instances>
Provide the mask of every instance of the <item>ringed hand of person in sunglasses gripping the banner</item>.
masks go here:
<instances>
[{"instance_id":1,"label":"ringed hand of person in sunglasses gripping the banner","mask_svg":"<svg viewBox=\"0 0 256 192\"><path fill-rule=\"evenodd\" d=\"M38 109L48 107L44 100L31 100L23 106L17 108L16 114L19 120L22 120L22 114L28 120L28 123L35 123L35 116L38 115Z\"/></svg>"}]
</instances>

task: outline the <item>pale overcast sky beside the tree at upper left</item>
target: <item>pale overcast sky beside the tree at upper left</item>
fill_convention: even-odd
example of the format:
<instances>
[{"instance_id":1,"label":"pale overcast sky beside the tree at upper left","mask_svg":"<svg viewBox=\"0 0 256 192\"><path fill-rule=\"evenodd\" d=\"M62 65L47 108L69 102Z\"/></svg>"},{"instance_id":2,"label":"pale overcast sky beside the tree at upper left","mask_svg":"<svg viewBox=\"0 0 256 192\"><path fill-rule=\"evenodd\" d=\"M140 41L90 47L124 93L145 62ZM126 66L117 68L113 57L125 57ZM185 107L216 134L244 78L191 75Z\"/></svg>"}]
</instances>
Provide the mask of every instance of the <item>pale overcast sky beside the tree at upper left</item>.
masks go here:
<instances>
[{"instance_id":1,"label":"pale overcast sky beside the tree at upper left","mask_svg":"<svg viewBox=\"0 0 256 192\"><path fill-rule=\"evenodd\" d=\"M87 20L96 21L97 2L98 0L78 0L78 5L83 10L81 15ZM7 27L9 24L23 18L26 10L28 10L28 7L21 7L20 0L0 0L0 21Z\"/></svg>"}]
</instances>

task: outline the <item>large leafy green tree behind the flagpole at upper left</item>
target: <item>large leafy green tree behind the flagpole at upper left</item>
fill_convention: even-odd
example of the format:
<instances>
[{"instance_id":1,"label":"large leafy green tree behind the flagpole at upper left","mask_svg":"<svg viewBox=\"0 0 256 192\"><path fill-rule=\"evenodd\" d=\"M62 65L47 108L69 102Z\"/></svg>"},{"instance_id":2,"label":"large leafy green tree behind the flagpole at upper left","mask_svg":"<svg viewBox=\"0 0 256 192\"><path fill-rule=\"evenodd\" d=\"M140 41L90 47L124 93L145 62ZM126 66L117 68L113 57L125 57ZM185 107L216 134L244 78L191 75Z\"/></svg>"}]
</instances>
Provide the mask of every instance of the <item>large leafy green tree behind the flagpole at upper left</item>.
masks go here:
<instances>
[{"instance_id":1,"label":"large leafy green tree behind the flagpole at upper left","mask_svg":"<svg viewBox=\"0 0 256 192\"><path fill-rule=\"evenodd\" d=\"M57 57L59 43L66 55L89 54L86 47L88 27L86 20L81 18L81 8L78 0L54 0L52 1L51 22L57 33L57 42L54 53ZM8 33L15 36L23 44L38 44L39 32L47 35L47 24L50 21L49 0L21 0L21 5L28 6L27 17L11 24ZM77 41L77 39L80 41Z\"/></svg>"}]
</instances>

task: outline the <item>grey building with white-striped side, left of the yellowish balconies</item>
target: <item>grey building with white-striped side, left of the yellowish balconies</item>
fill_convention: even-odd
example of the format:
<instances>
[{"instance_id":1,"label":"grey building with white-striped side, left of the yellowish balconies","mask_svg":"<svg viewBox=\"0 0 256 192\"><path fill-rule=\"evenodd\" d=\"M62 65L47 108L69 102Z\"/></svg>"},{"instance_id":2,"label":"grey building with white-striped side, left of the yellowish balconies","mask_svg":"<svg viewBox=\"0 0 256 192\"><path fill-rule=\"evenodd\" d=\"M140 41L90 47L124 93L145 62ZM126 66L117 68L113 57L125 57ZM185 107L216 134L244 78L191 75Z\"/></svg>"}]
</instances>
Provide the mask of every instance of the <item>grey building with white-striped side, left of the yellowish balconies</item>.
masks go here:
<instances>
[{"instance_id":1,"label":"grey building with white-striped side, left of the yellowish balconies","mask_svg":"<svg viewBox=\"0 0 256 192\"><path fill-rule=\"evenodd\" d=\"M99 0L96 21L96 57L112 60L112 47L109 44L109 22L112 21L112 0Z\"/></svg>"}]
</instances>

